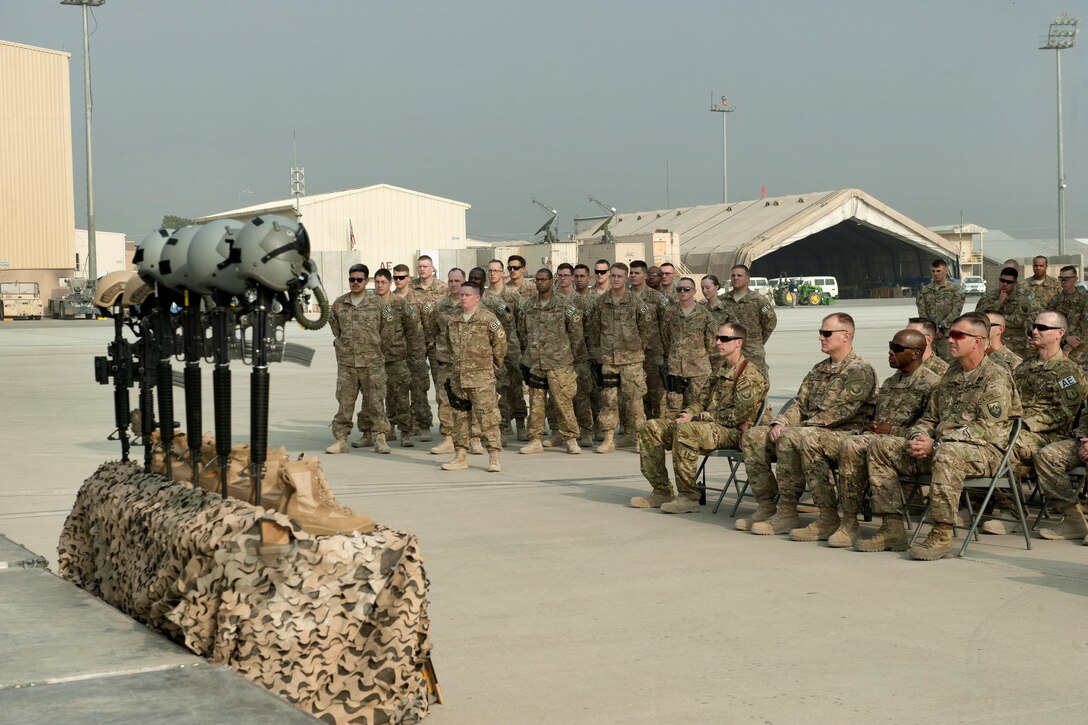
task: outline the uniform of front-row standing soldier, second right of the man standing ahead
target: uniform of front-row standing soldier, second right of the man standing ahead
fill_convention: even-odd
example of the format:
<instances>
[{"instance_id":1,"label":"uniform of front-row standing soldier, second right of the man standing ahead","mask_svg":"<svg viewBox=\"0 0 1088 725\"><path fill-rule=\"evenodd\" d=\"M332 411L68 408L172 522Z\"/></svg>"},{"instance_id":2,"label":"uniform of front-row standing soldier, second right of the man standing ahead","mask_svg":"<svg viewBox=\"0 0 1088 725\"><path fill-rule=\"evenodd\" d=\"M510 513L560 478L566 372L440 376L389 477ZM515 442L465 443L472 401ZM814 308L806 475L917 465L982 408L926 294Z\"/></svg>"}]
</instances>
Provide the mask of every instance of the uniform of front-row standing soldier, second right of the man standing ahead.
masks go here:
<instances>
[{"instance_id":1,"label":"uniform of front-row standing soldier, second right of the man standing ahead","mask_svg":"<svg viewBox=\"0 0 1088 725\"><path fill-rule=\"evenodd\" d=\"M655 330L650 306L631 291L626 291L618 299L609 292L590 305L586 334L590 360L599 364L605 376L605 385L601 390L601 430L613 431L619 423L620 395L628 406L631 432L636 432L645 423L642 404L646 394L643 351ZM619 377L618 386L608 384L616 376Z\"/></svg>"}]
</instances>

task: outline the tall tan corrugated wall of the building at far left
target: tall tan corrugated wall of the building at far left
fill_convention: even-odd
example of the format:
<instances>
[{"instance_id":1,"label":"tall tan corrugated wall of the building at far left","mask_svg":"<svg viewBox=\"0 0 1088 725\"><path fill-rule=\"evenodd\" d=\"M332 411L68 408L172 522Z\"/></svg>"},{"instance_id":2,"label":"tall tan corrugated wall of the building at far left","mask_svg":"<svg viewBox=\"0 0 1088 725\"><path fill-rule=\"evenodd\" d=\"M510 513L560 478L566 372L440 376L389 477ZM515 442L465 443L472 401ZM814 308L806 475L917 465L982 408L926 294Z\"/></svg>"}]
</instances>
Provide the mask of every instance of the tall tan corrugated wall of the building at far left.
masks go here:
<instances>
[{"instance_id":1,"label":"tall tan corrugated wall of the building at far left","mask_svg":"<svg viewBox=\"0 0 1088 725\"><path fill-rule=\"evenodd\" d=\"M0 40L0 270L75 263L69 58Z\"/></svg>"}]
</instances>

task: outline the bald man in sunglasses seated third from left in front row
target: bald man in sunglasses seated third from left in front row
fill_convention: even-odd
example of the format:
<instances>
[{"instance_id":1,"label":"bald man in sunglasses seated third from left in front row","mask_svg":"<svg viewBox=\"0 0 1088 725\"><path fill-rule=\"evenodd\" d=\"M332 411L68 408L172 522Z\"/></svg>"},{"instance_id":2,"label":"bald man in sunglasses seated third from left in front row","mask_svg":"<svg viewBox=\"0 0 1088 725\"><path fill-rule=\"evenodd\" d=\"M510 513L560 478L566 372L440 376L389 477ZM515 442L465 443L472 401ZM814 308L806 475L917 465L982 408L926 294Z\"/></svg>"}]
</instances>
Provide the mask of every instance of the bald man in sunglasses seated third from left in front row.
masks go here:
<instances>
[{"instance_id":1,"label":"bald man in sunglasses seated third from left in front row","mask_svg":"<svg viewBox=\"0 0 1088 725\"><path fill-rule=\"evenodd\" d=\"M868 488L866 453L873 441L881 435L902 438L914 422L922 417L932 392L941 377L925 365L923 355L926 337L917 330L900 330L888 343L888 366L895 372L883 381L877 393L873 420L863 433L849 435L839 443L837 450L828 450L820 440L823 431L816 431L801 441L801 467L805 471L805 482L813 492L813 499L833 501L829 463L838 462L836 476L839 488L839 505L842 521L836 528L838 516L809 524L803 529L790 531L793 541L827 541L829 546L844 549L857 538L857 514ZM939 357L934 357L940 360ZM943 362L943 360L941 360Z\"/></svg>"}]
</instances>

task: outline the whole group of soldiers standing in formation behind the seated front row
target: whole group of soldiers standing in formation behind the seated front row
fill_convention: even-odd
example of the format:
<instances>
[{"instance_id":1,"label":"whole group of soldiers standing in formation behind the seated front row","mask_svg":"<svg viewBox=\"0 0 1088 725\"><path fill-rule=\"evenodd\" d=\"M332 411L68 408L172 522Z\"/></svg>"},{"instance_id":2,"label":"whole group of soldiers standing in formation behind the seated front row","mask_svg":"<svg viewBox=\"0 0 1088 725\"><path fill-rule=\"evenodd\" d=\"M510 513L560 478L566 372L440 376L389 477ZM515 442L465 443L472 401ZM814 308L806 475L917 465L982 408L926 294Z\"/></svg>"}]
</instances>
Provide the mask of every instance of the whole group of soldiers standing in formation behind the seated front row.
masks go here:
<instances>
[{"instance_id":1,"label":"whole group of soldiers standing in formation behind the seated front row","mask_svg":"<svg viewBox=\"0 0 1088 725\"><path fill-rule=\"evenodd\" d=\"M716 335L730 320L751 331L744 353L766 373L764 344L777 319L772 304L749 288L746 267L733 268L724 297L717 278L704 278L702 303L693 280L677 279L668 262L635 260L628 267L602 259L593 267L592 275L586 265L562 263L554 275L542 268L530 282L524 259L514 255L505 269L493 259L467 279L453 269L443 285L423 256L416 279L404 265L392 273L378 270L374 294L368 294L369 270L354 266L349 292L332 306L339 409L326 452L347 452L360 397L362 434L351 446L388 453L391 422L403 446L415 445L417 432L430 440L430 382L442 433L431 452L455 454L443 466L447 470L467 467L467 454L482 454L483 441L489 470L499 470L511 423L528 443L524 454L559 445L578 454L592 445L591 437L597 453L636 446L647 417L679 411L698 398L721 367ZM480 388L493 389L494 404L467 394ZM545 418L552 431L546 440ZM620 425L625 435L617 438Z\"/></svg>"}]
</instances>

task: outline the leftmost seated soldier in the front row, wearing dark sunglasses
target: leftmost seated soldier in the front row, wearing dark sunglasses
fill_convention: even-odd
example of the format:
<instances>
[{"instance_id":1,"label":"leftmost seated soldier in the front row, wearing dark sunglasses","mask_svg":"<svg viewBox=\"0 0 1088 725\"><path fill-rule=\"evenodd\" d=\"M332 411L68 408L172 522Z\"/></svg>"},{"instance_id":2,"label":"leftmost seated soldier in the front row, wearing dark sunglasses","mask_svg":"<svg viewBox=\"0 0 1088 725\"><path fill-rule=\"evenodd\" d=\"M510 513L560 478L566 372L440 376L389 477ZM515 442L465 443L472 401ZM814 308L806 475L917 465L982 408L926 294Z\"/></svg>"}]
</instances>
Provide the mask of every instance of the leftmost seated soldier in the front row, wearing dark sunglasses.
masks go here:
<instances>
[{"instance_id":1,"label":"leftmost seated soldier in the front row, wearing dark sunglasses","mask_svg":"<svg viewBox=\"0 0 1088 725\"><path fill-rule=\"evenodd\" d=\"M660 507L667 514L698 511L695 470L698 456L717 448L740 447L744 431L755 422L767 395L767 379L759 367L741 355L747 330L739 322L718 328L721 367L710 376L698 402L680 413L676 420L647 420L640 432L639 456L642 475L653 487L648 496L631 499L635 508ZM672 450L677 496L672 496L665 452Z\"/></svg>"}]
</instances>

